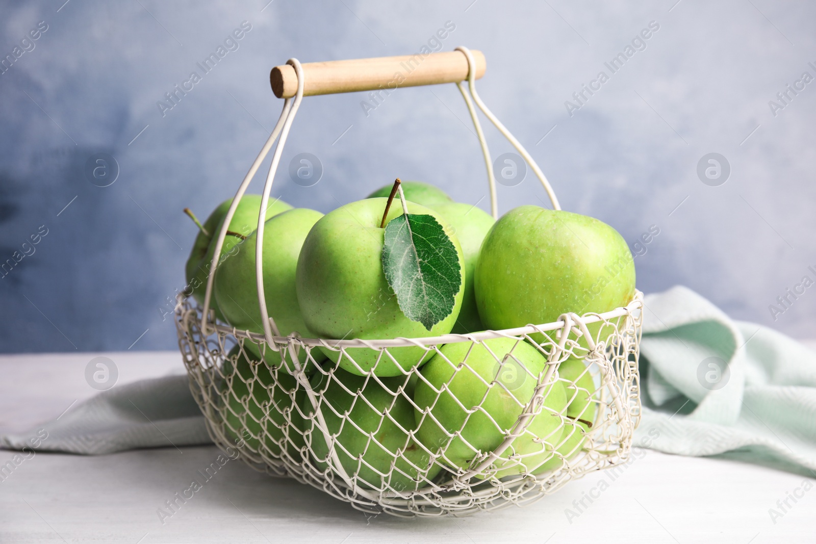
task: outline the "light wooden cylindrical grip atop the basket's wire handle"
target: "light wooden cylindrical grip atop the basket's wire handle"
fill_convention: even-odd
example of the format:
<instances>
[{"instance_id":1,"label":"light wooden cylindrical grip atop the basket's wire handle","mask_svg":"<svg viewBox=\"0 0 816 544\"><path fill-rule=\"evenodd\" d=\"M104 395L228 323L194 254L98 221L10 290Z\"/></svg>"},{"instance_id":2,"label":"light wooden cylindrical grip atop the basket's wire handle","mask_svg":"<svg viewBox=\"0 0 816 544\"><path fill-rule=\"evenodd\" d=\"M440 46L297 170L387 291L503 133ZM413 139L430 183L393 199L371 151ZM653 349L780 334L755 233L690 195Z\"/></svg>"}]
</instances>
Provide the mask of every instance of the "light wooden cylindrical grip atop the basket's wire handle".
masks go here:
<instances>
[{"instance_id":1,"label":"light wooden cylindrical grip atop the basket's wire handle","mask_svg":"<svg viewBox=\"0 0 816 544\"><path fill-rule=\"evenodd\" d=\"M471 53L476 61L478 79L485 75L485 55L481 51ZM301 64L301 67L304 96L437 85L468 78L468 58L461 51L310 62ZM298 90L298 77L289 64L273 68L269 82L277 98L291 98Z\"/></svg>"}]
</instances>

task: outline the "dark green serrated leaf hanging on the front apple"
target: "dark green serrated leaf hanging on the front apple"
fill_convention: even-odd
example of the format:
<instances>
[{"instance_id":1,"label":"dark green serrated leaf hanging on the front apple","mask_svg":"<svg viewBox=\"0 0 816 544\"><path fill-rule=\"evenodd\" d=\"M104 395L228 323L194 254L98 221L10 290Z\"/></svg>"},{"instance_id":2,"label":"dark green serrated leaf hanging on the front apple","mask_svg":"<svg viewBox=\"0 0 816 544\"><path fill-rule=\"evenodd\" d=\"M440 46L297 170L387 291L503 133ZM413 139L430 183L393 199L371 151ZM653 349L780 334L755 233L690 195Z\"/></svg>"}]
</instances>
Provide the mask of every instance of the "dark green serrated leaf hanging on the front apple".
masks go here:
<instances>
[{"instance_id":1,"label":"dark green serrated leaf hanging on the front apple","mask_svg":"<svg viewBox=\"0 0 816 544\"><path fill-rule=\"evenodd\" d=\"M459 253L432 215L403 214L385 226L383 272L402 313L432 329L454 309Z\"/></svg>"}]
</instances>

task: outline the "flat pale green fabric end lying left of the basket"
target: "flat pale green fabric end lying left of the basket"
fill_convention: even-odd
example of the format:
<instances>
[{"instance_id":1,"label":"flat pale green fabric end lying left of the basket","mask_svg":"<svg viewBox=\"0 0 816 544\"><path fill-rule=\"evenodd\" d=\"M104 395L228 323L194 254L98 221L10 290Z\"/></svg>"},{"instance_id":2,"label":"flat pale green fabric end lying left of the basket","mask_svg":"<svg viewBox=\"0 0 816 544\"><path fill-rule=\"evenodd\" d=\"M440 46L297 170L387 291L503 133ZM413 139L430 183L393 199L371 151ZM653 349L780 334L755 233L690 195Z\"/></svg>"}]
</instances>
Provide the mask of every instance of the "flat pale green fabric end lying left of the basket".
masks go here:
<instances>
[{"instance_id":1,"label":"flat pale green fabric end lying left of the basket","mask_svg":"<svg viewBox=\"0 0 816 544\"><path fill-rule=\"evenodd\" d=\"M43 439L41 429L47 431ZM186 375L113 387L51 422L0 436L0 446L100 454L126 449L212 444Z\"/></svg>"}]
</instances>

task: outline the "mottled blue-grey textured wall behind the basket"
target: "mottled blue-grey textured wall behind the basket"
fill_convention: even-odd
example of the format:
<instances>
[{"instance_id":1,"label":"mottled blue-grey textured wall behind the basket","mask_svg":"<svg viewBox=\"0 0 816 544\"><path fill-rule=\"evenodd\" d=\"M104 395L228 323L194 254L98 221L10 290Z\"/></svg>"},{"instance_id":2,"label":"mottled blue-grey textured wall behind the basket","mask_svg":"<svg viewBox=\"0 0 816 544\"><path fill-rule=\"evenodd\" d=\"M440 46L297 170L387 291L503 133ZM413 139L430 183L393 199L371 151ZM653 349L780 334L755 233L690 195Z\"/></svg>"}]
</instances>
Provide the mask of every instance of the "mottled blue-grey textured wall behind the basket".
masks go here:
<instances>
[{"instance_id":1,"label":"mottled blue-grey textured wall behind the basket","mask_svg":"<svg viewBox=\"0 0 816 544\"><path fill-rule=\"evenodd\" d=\"M482 98L565 210L630 244L660 229L636 259L641 290L689 285L732 316L814 337L816 288L776 321L768 308L816 278L816 82L775 116L769 108L803 72L816 76L812 2L62 2L2 2L0 55L48 25L0 74L0 260L48 232L0 279L2 352L124 350L145 331L132 349L173 348L162 313L196 233L181 210L206 216L234 193L282 104L269 69L291 56L414 53L448 20L444 50L485 52ZM162 116L157 101L244 20L237 51ZM645 50L570 116L565 100L653 20ZM325 173L303 188L284 167L275 196L326 212L397 176L460 201L486 194L455 86L400 90L367 117L365 99L304 100L282 165L313 153ZM488 138L494 157L510 151L494 130ZM732 168L720 187L696 174L711 152ZM94 153L118 161L113 185L86 179ZM501 212L544 197L531 174L499 189Z\"/></svg>"}]
</instances>

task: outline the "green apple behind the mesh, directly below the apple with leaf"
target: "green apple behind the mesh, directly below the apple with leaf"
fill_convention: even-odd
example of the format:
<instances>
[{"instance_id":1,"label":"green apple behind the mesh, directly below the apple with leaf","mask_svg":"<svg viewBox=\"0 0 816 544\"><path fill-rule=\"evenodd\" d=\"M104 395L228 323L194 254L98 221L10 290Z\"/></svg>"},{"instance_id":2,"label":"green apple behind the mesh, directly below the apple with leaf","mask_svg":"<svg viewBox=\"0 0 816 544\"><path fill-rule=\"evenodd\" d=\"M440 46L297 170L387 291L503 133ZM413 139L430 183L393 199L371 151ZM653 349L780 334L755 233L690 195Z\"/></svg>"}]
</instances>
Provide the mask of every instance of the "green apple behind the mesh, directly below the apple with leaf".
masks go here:
<instances>
[{"instance_id":1,"label":"green apple behind the mesh, directly below the apple with leaf","mask_svg":"<svg viewBox=\"0 0 816 544\"><path fill-rule=\"evenodd\" d=\"M382 385L379 383L381 382ZM318 409L326 430L336 436L335 452L340 464L364 487L379 490L412 491L423 488L439 474L421 444L410 436L416 428L410 404L409 379L364 378L335 369L329 377L315 374L312 388L322 399ZM404 392L399 392L405 390ZM313 414L308 398L302 400L303 413ZM325 471L329 448L312 415L312 451L317 467Z\"/></svg>"}]
</instances>

